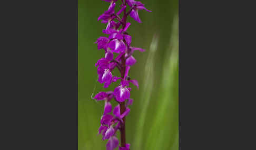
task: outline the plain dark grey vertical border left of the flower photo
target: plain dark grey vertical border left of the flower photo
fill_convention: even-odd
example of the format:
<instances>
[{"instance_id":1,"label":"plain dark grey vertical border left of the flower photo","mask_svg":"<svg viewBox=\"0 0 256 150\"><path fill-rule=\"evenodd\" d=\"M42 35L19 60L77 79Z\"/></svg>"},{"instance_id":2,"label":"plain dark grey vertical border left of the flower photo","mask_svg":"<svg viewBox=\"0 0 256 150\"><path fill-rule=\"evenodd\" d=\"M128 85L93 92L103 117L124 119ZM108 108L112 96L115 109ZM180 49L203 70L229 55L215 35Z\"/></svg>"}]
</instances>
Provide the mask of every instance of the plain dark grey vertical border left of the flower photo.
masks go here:
<instances>
[{"instance_id":1,"label":"plain dark grey vertical border left of the flower photo","mask_svg":"<svg viewBox=\"0 0 256 150\"><path fill-rule=\"evenodd\" d=\"M78 0L1 6L0 149L78 149Z\"/></svg>"}]
</instances>

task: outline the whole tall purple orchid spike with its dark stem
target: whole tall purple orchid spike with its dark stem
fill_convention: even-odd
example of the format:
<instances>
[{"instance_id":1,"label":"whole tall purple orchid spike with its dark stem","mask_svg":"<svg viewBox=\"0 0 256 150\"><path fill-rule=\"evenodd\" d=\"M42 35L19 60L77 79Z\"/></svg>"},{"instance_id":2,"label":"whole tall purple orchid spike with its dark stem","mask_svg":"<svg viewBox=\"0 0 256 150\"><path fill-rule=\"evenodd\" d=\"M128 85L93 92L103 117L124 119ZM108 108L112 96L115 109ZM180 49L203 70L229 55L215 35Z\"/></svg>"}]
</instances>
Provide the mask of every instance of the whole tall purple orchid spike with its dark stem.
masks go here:
<instances>
[{"instance_id":1,"label":"whole tall purple orchid spike with its dark stem","mask_svg":"<svg viewBox=\"0 0 256 150\"><path fill-rule=\"evenodd\" d=\"M130 113L129 106L132 105L133 99L131 99L130 83L139 88L139 83L135 79L131 79L129 74L130 67L136 63L136 59L132 56L135 50L141 52L145 51L142 48L132 46L132 36L127 33L127 29L131 26L131 23L126 22L127 16L131 16L134 20L141 23L141 19L138 14L138 10L145 9L147 12L151 12L144 7L139 1L134 0L122 0L119 10L115 13L115 5L117 0L102 0L110 3L107 10L99 16L98 20L107 24L106 28L102 31L107 35L97 38L97 49L104 49L105 56L99 59L95 67L97 67L98 80L104 84L104 88L108 88L113 82L119 82L119 85L113 90L108 92L99 92L95 95L94 99L97 101L104 101L103 114L100 120L100 127L98 134L102 135L102 140L108 140L106 144L107 150L113 150L119 147L119 150L130 150L130 144L121 142L116 137L116 132L121 132L124 126L124 118ZM126 5L127 4L127 5ZM130 6L130 10L126 12L127 6ZM123 13L123 17L120 14ZM120 28L121 27L121 28ZM117 56L114 58L114 54ZM113 70L117 68L121 77L114 76ZM111 101L117 102L117 105L112 108Z\"/></svg>"}]
</instances>

